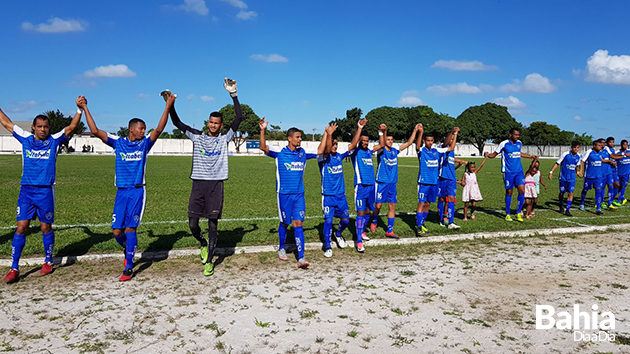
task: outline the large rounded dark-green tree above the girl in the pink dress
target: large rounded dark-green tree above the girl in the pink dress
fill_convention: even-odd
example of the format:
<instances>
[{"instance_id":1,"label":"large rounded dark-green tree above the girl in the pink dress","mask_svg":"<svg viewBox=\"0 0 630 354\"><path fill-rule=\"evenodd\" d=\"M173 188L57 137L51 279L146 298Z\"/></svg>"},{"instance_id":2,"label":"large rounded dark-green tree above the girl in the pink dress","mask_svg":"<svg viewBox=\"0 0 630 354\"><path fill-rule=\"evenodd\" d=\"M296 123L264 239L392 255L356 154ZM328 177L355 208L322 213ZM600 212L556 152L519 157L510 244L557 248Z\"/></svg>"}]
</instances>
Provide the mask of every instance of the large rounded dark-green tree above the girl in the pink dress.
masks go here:
<instances>
[{"instance_id":1,"label":"large rounded dark-green tree above the girl in the pink dress","mask_svg":"<svg viewBox=\"0 0 630 354\"><path fill-rule=\"evenodd\" d=\"M508 137L510 129L522 129L522 125L510 115L507 107L495 103L471 106L456 119L462 141L473 144L483 155L486 141L501 141Z\"/></svg>"}]
</instances>

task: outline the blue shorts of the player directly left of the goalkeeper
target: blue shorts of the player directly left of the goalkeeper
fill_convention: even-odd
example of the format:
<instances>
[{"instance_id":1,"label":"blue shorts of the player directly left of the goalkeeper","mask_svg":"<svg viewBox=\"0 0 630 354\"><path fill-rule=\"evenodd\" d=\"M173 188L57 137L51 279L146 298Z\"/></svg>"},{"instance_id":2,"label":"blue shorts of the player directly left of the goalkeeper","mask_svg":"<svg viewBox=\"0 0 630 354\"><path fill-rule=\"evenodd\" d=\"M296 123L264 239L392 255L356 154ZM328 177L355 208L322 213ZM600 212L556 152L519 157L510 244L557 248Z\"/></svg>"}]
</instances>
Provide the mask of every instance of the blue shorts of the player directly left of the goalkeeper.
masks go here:
<instances>
[{"instance_id":1,"label":"blue shorts of the player directly left of the goalkeeper","mask_svg":"<svg viewBox=\"0 0 630 354\"><path fill-rule=\"evenodd\" d=\"M118 188L112 215L112 229L140 226L146 201L144 187Z\"/></svg>"}]
</instances>

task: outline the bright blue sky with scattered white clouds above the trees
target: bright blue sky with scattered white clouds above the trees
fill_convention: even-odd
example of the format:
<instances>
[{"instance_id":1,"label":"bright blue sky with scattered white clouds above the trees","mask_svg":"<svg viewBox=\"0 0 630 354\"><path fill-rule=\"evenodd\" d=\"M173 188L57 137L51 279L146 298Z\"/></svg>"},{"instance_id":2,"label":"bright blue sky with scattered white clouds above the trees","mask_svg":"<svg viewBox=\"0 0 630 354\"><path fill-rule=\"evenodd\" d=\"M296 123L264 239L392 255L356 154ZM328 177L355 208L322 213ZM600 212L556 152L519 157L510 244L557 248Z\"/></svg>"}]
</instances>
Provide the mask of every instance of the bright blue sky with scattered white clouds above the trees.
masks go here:
<instances>
[{"instance_id":1,"label":"bright blue sky with scattered white clouds above the trees","mask_svg":"<svg viewBox=\"0 0 630 354\"><path fill-rule=\"evenodd\" d=\"M359 107L428 105L457 117L495 102L520 122L630 138L625 1L3 1L0 108L151 128L178 94L197 128L241 103L283 129L322 132ZM166 130L174 129L172 123Z\"/></svg>"}]
</instances>

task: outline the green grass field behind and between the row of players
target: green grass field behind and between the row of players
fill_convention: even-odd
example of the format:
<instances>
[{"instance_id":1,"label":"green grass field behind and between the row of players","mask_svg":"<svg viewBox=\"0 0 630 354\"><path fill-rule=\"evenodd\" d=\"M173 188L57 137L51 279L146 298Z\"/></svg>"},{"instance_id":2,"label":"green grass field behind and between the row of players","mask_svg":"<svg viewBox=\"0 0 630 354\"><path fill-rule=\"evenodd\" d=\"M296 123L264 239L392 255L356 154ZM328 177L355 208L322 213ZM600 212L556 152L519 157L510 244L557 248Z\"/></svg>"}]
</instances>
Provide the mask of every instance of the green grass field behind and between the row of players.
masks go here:
<instances>
[{"instance_id":1,"label":"green grass field behind and between the row of players","mask_svg":"<svg viewBox=\"0 0 630 354\"><path fill-rule=\"evenodd\" d=\"M529 164L528 160L524 163ZM551 169L553 160L542 160L541 172ZM539 197L537 216L524 223L508 223L504 217L504 189L500 172L500 160L489 160L478 176L484 200L479 204L477 220L464 223L463 203L457 204L456 223L459 231L451 231L437 224L435 205L427 227L431 234L492 232L503 230L537 229L543 227L567 227L580 225L604 225L621 223L630 216L630 208L605 212L596 216L593 209L582 212L575 210L568 218L557 212L557 180L547 182L549 189L542 190ZM138 232L138 250L170 250L173 248L197 247L189 236L187 205L190 194L191 157L150 156L147 164L147 206ZM395 232L402 237L414 237L415 208L417 205L416 178L418 161L401 158L399 161L398 204ZM527 167L527 166L526 166ZM219 246L246 246L275 244L277 242L277 207L275 193L275 170L273 159L268 157L231 157L230 179L225 184L224 220L219 223ZM345 166L346 195L353 212L353 174L349 163ZM463 173L463 167L458 171ZM56 244L55 255L82 255L89 252L120 251L113 240L109 222L116 189L114 183L113 156L67 156L60 155L57 163L56 194ZM21 176L21 156L0 156L0 257L11 253L11 240L15 227L15 208ZM557 174L556 174L557 176ZM320 177L317 163L308 162L305 172L306 215L304 231L307 242L322 239ZM541 186L542 189L542 186ZM576 194L579 199L581 180ZM461 188L458 190L461 195ZM593 192L589 193L587 208L593 204ZM577 207L577 205L576 205ZM512 209L516 208L516 197ZM381 226L375 237L385 236L387 206L381 210ZM407 214L408 213L408 214ZM238 219L238 220L234 220ZM205 222L203 222L205 224ZM37 226L37 222L32 225ZM205 232L206 227L204 227ZM345 232L349 239L354 233L354 222ZM27 237L24 255L41 254L41 233L31 228ZM291 237L289 237L291 239ZM347 250L351 252L350 250ZM368 250L369 251L369 250Z\"/></svg>"}]
</instances>

